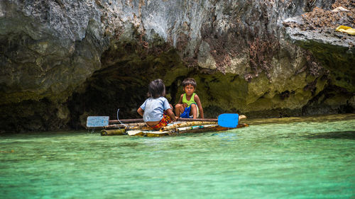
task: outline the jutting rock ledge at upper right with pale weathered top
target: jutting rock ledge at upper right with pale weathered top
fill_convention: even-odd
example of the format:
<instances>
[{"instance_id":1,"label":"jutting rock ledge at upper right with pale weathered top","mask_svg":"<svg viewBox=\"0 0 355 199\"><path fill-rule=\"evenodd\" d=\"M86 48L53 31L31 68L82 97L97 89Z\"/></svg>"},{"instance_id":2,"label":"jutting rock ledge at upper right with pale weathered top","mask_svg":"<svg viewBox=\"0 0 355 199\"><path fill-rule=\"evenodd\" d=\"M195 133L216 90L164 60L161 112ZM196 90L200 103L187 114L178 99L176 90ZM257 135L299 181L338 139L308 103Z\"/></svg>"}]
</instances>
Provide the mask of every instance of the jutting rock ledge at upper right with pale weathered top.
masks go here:
<instances>
[{"instance_id":1,"label":"jutting rock ledge at upper right with pale weathered top","mask_svg":"<svg viewBox=\"0 0 355 199\"><path fill-rule=\"evenodd\" d=\"M347 11L334 11L344 6ZM335 86L354 93L353 69L355 63L355 37L334 31L339 25L355 26L355 2L337 1L331 10L315 8L302 16L283 21L290 40L302 48L310 50L321 63L329 69L329 79Z\"/></svg>"}]
</instances>

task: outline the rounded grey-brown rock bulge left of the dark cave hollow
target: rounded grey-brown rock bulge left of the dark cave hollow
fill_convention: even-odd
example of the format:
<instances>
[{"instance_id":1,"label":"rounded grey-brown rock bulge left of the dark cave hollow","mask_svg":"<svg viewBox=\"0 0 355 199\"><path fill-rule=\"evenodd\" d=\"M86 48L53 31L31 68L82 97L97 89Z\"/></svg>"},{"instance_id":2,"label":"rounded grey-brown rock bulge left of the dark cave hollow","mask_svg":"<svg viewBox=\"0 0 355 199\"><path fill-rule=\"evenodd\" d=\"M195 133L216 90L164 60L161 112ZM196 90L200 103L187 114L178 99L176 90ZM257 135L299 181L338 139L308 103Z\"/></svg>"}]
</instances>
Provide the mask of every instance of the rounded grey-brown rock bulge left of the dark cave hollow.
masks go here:
<instances>
[{"instance_id":1,"label":"rounded grey-brown rock bulge left of the dark cave hollow","mask_svg":"<svg viewBox=\"0 0 355 199\"><path fill-rule=\"evenodd\" d=\"M99 20L93 2L1 1L1 104L65 101L101 67Z\"/></svg>"}]
</instances>

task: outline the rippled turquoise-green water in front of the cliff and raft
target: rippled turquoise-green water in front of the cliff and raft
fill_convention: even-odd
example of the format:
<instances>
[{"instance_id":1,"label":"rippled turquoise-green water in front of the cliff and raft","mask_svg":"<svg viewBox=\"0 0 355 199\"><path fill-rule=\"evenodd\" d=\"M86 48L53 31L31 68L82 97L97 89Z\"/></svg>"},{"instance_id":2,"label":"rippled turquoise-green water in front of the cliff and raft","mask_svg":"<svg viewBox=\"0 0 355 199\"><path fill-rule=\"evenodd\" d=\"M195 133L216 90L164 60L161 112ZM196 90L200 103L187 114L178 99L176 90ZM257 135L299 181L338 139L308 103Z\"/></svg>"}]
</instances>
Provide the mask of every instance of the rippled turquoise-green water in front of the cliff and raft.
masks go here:
<instances>
[{"instance_id":1,"label":"rippled turquoise-green water in front of the cliff and raft","mask_svg":"<svg viewBox=\"0 0 355 199\"><path fill-rule=\"evenodd\" d=\"M355 198L355 115L175 137L0 135L0 198Z\"/></svg>"}]
</instances>

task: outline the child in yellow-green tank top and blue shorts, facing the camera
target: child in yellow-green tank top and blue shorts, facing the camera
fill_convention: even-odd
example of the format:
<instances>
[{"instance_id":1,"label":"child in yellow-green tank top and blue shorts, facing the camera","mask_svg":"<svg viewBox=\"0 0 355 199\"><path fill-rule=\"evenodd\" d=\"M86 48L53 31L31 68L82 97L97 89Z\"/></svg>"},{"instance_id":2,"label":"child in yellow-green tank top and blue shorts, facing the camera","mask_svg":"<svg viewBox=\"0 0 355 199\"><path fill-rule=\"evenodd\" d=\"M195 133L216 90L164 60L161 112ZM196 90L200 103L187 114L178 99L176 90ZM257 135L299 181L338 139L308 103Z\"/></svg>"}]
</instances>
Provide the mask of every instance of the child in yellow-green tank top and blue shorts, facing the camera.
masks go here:
<instances>
[{"instance_id":1,"label":"child in yellow-green tank top and blue shorts, facing the camera","mask_svg":"<svg viewBox=\"0 0 355 199\"><path fill-rule=\"evenodd\" d=\"M199 96L195 93L196 81L187 78L182 81L185 93L180 96L179 102L175 105L175 114L178 118L204 118L203 109Z\"/></svg>"}]
</instances>

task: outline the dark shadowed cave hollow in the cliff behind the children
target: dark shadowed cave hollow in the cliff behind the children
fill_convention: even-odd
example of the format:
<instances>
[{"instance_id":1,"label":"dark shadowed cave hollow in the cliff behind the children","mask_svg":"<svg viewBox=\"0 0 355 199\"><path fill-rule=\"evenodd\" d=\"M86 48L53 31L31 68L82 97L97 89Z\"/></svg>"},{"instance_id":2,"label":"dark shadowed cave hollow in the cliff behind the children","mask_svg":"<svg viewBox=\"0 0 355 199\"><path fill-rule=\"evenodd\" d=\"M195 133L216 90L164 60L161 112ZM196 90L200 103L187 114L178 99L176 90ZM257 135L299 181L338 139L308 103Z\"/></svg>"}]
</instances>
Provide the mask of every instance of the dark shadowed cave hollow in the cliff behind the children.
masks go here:
<instances>
[{"instance_id":1,"label":"dark shadowed cave hollow in the cliff behind the children","mask_svg":"<svg viewBox=\"0 0 355 199\"><path fill-rule=\"evenodd\" d=\"M147 53L131 43L115 45L104 52L101 62L102 69L94 72L67 102L70 127L74 129L82 128L89 115L108 115L115 120L118 109L120 119L141 117L136 110L146 100L153 79L163 79L166 98L174 106L182 92L182 80L197 74L197 69L185 67L173 48Z\"/></svg>"}]
</instances>

